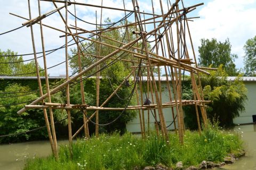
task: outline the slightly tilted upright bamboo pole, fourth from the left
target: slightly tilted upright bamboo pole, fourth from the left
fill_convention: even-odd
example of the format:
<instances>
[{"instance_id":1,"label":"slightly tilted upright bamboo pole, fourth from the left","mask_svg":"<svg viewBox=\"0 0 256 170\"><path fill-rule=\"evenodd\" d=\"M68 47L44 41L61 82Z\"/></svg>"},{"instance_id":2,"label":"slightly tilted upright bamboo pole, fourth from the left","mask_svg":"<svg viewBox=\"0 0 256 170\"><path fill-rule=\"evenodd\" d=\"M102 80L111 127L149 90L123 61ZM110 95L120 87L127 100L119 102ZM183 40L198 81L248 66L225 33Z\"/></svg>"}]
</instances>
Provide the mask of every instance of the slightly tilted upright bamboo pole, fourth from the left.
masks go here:
<instances>
[{"instance_id":1,"label":"slightly tilted upright bamboo pole, fourth from the left","mask_svg":"<svg viewBox=\"0 0 256 170\"><path fill-rule=\"evenodd\" d=\"M76 16L76 5L75 4L74 4L74 8L75 8L74 10L75 10L75 16ZM75 26L76 26L76 34L77 34L77 20L76 20L76 18L75 18ZM77 45L77 56L78 56L78 69L79 69L79 73L80 73L82 71L82 64L81 64L80 47L79 47L78 42L79 42L79 38L77 37L76 38L76 45ZM80 79L81 99L82 99L82 104L84 105L85 104L85 97L84 97L84 83L83 83L82 76L79 79ZM85 135L86 138L89 138L89 129L88 129L88 123L85 123L87 121L87 117L85 116L85 114L83 114L84 135Z\"/></svg>"}]
</instances>

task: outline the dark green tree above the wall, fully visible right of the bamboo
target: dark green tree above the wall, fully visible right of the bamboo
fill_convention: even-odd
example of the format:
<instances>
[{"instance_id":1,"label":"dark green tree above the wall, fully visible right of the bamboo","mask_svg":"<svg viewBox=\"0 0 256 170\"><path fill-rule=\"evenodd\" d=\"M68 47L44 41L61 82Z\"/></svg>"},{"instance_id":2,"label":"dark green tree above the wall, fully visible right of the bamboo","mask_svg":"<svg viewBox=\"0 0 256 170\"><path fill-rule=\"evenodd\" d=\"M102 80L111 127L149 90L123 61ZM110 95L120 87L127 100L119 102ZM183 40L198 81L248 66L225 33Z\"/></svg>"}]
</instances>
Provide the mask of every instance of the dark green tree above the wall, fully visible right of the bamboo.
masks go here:
<instances>
[{"instance_id":1,"label":"dark green tree above the wall, fully visible right of the bamboo","mask_svg":"<svg viewBox=\"0 0 256 170\"><path fill-rule=\"evenodd\" d=\"M231 54L231 45L229 39L224 43L217 41L217 39L201 39L201 46L198 47L199 52L199 65L205 67L219 67L223 65L223 69L228 75L237 75L235 59L238 57L236 54Z\"/></svg>"}]
</instances>

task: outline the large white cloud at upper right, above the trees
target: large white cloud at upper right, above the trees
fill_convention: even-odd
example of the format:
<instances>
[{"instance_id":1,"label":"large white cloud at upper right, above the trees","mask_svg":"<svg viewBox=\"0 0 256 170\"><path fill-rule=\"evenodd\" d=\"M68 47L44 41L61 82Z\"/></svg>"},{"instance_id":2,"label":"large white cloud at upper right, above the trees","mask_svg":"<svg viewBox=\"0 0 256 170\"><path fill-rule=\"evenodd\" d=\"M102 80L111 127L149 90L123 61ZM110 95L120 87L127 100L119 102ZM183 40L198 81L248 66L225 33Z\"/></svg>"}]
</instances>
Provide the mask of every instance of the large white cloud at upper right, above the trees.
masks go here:
<instances>
[{"instance_id":1,"label":"large white cloud at upper right, above the trees","mask_svg":"<svg viewBox=\"0 0 256 170\"><path fill-rule=\"evenodd\" d=\"M243 67L243 46L247 39L256 35L256 23L253 19L256 15L256 1L214 0L198 14L201 19L190 24L196 49L201 38L216 38L220 41L229 38L231 53L239 57L235 61L237 68Z\"/></svg>"}]
</instances>

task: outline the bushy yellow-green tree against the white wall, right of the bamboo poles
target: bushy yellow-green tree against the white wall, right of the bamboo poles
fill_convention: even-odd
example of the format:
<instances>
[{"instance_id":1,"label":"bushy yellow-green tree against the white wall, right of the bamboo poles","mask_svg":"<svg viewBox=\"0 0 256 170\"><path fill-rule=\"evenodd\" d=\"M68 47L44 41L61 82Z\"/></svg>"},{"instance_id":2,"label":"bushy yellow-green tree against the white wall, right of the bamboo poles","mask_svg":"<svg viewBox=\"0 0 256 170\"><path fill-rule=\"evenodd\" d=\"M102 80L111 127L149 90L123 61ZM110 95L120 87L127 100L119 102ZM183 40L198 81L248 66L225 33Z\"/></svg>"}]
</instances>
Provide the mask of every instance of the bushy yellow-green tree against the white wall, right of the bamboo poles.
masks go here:
<instances>
[{"instance_id":1,"label":"bushy yellow-green tree against the white wall, right of the bamboo poles","mask_svg":"<svg viewBox=\"0 0 256 170\"><path fill-rule=\"evenodd\" d=\"M235 81L227 81L227 73L222 69L222 65L217 71L210 73L210 76L201 77L204 99L212 100L212 103L207 104L206 107L207 116L210 120L219 120L221 126L233 125L233 118L245 110L247 89L239 76ZM193 92L185 89L183 96L186 96L186 99L193 99ZM195 106L185 106L184 110L186 125L196 129Z\"/></svg>"}]
</instances>

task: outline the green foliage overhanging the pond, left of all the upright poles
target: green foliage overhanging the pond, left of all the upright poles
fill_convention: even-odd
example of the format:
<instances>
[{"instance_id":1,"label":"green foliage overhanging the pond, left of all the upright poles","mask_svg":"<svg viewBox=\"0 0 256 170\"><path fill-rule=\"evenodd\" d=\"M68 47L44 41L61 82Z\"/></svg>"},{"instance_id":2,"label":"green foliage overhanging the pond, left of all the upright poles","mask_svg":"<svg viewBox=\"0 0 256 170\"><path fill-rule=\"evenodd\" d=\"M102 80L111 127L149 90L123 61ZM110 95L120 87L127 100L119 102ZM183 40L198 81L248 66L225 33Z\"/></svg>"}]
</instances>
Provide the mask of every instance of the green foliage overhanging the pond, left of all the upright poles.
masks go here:
<instances>
[{"instance_id":1,"label":"green foliage overhanging the pond, left of all the upright poles","mask_svg":"<svg viewBox=\"0 0 256 170\"><path fill-rule=\"evenodd\" d=\"M23 91L29 91L29 87L20 86L20 84L11 84L5 88L5 92L21 92L19 95L25 95ZM2 91L1 91L2 92ZM14 94L15 95L15 94ZM23 101L29 101L36 99L36 94L29 94L26 96L11 97L13 94L5 95L9 98L0 98L1 105L9 105L13 103L22 103ZM19 104L14 106L0 107L0 135L13 134L25 132L31 129L38 128L44 125L44 117L40 111L29 110L23 113L21 116L17 114L17 111L24 107L25 104ZM0 143L2 142L17 142L28 139L42 139L46 137L45 130L38 130L37 133L24 133L20 135L14 135L11 137L0 138Z\"/></svg>"}]
</instances>

